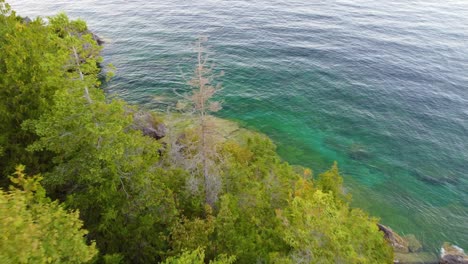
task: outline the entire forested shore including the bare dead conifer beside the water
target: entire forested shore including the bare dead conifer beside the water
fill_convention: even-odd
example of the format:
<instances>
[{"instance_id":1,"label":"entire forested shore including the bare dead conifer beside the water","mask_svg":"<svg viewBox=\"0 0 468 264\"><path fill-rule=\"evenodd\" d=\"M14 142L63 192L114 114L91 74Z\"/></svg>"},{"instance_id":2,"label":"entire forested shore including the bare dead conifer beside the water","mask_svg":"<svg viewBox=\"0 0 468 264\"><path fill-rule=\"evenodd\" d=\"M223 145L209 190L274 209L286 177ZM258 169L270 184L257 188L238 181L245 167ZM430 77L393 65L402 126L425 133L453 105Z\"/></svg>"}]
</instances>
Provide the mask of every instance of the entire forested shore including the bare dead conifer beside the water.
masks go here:
<instances>
[{"instance_id":1,"label":"entire forested shore including the bare dead conifer beside the water","mask_svg":"<svg viewBox=\"0 0 468 264\"><path fill-rule=\"evenodd\" d=\"M315 175L223 132L202 41L162 114L106 98L84 21L0 12L1 263L393 262L336 164Z\"/></svg>"}]
</instances>

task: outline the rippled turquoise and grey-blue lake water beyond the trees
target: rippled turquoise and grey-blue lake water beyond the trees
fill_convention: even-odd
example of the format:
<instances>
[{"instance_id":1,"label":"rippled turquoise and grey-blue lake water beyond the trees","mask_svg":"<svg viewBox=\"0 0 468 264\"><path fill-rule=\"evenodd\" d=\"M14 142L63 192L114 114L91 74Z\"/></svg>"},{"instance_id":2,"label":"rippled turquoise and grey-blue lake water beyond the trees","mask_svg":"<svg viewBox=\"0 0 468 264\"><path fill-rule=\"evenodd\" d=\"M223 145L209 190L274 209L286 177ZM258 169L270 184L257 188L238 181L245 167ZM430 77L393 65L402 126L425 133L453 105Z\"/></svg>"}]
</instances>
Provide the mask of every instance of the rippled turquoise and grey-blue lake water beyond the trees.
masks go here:
<instances>
[{"instance_id":1,"label":"rippled turquoise and grey-blue lake water beyond the trees","mask_svg":"<svg viewBox=\"0 0 468 264\"><path fill-rule=\"evenodd\" d=\"M191 43L208 36L226 73L219 116L315 172L337 160L354 205L427 250L468 249L468 2L10 3L87 20L118 69L105 89L152 109L187 88Z\"/></svg>"}]
</instances>

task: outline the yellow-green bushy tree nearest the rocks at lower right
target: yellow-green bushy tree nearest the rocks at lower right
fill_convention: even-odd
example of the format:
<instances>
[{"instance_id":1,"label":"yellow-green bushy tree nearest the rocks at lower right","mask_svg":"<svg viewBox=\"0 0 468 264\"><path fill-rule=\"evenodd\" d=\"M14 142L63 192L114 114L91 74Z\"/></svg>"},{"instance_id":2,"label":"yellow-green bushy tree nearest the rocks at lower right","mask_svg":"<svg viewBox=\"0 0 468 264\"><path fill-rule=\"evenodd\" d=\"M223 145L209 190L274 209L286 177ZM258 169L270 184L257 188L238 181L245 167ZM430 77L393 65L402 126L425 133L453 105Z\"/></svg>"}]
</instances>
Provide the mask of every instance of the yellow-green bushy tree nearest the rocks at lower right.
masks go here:
<instances>
[{"instance_id":1,"label":"yellow-green bushy tree nearest the rocks at lower right","mask_svg":"<svg viewBox=\"0 0 468 264\"><path fill-rule=\"evenodd\" d=\"M294 263L393 263L376 219L337 203L333 193L299 180L289 206L277 210Z\"/></svg>"}]
</instances>

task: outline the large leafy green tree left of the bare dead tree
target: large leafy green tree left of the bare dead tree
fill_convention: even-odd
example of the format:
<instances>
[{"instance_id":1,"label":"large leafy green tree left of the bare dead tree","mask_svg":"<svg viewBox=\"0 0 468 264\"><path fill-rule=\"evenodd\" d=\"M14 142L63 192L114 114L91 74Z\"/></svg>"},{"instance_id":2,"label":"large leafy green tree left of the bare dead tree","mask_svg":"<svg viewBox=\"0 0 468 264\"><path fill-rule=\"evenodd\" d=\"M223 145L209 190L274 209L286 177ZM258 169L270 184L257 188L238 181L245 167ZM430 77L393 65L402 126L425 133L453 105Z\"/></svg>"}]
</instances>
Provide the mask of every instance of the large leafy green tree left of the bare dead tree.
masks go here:
<instances>
[{"instance_id":1,"label":"large leafy green tree left of the bare dead tree","mask_svg":"<svg viewBox=\"0 0 468 264\"><path fill-rule=\"evenodd\" d=\"M80 209L90 237L103 253L133 263L155 262L167 250L168 226L177 214L165 172L154 167L161 145L132 130L132 108L105 102L102 91L57 92L55 105L27 126L40 136L32 151L54 153L45 174L52 194ZM168 172L170 173L170 172Z\"/></svg>"}]
</instances>

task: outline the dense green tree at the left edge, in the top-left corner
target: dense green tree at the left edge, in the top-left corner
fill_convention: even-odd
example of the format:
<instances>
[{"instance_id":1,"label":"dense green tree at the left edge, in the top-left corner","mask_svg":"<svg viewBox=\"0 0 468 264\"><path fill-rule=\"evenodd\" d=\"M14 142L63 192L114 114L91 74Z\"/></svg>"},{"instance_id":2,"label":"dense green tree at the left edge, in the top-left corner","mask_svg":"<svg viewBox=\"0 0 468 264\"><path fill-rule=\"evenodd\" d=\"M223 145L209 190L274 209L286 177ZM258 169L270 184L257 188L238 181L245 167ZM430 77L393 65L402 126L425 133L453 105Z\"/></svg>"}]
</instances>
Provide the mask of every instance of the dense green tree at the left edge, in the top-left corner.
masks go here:
<instances>
[{"instance_id":1,"label":"dense green tree at the left edge, in the top-left corner","mask_svg":"<svg viewBox=\"0 0 468 264\"><path fill-rule=\"evenodd\" d=\"M7 5L0 3L0 9L0 170L8 175L22 163L31 171L43 171L49 157L25 151L37 137L21 125L38 118L54 92L66 85L68 55L42 19L25 24Z\"/></svg>"}]
</instances>

